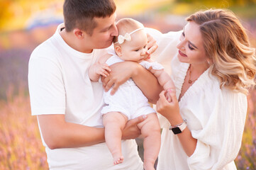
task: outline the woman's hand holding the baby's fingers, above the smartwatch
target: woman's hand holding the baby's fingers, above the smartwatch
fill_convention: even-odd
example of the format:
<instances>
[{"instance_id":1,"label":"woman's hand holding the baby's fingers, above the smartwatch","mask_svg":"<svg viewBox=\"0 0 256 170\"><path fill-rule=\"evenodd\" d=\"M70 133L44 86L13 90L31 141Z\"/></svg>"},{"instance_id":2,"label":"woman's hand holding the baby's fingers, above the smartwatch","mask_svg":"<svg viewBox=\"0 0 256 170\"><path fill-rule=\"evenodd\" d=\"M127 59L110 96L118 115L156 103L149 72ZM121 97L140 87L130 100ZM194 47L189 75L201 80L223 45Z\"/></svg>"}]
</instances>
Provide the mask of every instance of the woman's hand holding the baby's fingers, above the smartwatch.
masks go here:
<instances>
[{"instance_id":1,"label":"woman's hand holding the baby's fingers, above the smartwatch","mask_svg":"<svg viewBox=\"0 0 256 170\"><path fill-rule=\"evenodd\" d=\"M182 116L179 114L179 101L175 91L162 91L159 96L157 112L165 116L172 125L182 123Z\"/></svg>"}]
</instances>

